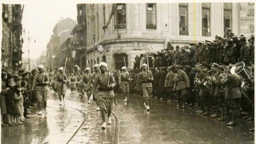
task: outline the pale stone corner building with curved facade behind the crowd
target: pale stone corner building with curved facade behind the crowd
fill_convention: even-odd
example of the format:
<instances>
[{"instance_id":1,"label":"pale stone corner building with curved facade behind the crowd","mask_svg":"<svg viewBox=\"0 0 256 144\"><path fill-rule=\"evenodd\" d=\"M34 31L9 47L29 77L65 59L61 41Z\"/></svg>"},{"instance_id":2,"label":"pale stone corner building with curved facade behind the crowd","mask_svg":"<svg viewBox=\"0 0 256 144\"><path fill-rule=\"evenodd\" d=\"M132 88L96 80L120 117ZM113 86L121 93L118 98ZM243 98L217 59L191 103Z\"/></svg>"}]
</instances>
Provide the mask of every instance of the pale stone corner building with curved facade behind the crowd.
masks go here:
<instances>
[{"instance_id":1,"label":"pale stone corner building with curved facade behind the crowd","mask_svg":"<svg viewBox=\"0 0 256 144\"><path fill-rule=\"evenodd\" d=\"M86 4L86 59L109 63L112 68L133 67L146 52L223 36L226 27L240 35L240 3ZM253 18L254 22L254 18ZM253 29L254 30L254 29ZM102 49L103 48L103 49ZM93 65L92 64L92 65Z\"/></svg>"}]
</instances>

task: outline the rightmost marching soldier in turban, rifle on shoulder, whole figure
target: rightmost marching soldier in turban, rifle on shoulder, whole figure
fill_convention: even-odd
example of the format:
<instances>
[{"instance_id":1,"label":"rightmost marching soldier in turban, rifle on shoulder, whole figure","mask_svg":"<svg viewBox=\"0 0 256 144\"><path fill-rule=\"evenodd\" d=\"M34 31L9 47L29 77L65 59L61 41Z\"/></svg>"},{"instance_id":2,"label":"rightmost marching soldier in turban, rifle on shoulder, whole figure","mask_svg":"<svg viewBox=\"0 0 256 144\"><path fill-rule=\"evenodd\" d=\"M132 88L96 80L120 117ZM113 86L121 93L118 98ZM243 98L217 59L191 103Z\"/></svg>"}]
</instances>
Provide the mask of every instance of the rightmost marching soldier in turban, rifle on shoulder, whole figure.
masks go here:
<instances>
[{"instance_id":1,"label":"rightmost marching soldier in turban, rifle on shoulder, whole figure","mask_svg":"<svg viewBox=\"0 0 256 144\"><path fill-rule=\"evenodd\" d=\"M152 93L151 82L154 80L154 78L153 78L151 71L147 70L147 67L148 67L147 64L142 65L143 71L140 72L140 74L138 76L137 87L139 87L139 84L141 84L143 98L145 100L144 106L145 106L145 108L147 108L147 110L149 110L148 100L149 100L149 96L151 96L151 93Z\"/></svg>"}]
</instances>

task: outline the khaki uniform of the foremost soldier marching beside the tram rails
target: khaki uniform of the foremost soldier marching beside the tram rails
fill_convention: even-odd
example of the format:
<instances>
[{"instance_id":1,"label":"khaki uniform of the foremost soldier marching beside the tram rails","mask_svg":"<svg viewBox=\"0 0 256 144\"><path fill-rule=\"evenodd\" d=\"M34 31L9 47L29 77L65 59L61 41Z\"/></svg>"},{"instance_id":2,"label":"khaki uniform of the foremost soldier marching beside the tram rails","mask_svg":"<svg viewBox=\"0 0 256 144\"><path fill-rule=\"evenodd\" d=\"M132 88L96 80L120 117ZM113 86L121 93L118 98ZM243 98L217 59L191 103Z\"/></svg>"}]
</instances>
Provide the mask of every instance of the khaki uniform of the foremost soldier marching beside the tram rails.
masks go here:
<instances>
[{"instance_id":1,"label":"khaki uniform of the foremost soldier marching beside the tram rails","mask_svg":"<svg viewBox=\"0 0 256 144\"><path fill-rule=\"evenodd\" d=\"M111 112L111 109L113 107L113 101L115 96L113 88L116 86L116 81L113 76L110 76L109 84L112 86L112 90L106 89L106 87L108 86L108 72L100 73L98 76L95 77L92 89L92 94L95 95L96 88L99 85L99 107L100 111L105 111L106 113Z\"/></svg>"}]
</instances>

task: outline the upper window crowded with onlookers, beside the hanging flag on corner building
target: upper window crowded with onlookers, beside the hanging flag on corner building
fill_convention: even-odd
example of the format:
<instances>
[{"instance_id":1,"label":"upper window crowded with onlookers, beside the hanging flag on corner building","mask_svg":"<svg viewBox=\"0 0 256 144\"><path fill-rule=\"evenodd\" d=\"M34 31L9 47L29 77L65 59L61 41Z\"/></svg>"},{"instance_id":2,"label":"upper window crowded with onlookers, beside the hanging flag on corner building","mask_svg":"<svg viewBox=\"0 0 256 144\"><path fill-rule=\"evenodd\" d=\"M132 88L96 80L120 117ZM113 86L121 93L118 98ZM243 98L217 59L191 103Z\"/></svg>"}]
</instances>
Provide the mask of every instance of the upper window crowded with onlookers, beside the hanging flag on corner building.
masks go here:
<instances>
[{"instance_id":1,"label":"upper window crowded with onlookers, beside the hanging flag on corner building","mask_svg":"<svg viewBox=\"0 0 256 144\"><path fill-rule=\"evenodd\" d=\"M116 4L115 29L126 28L125 4Z\"/></svg>"}]
</instances>

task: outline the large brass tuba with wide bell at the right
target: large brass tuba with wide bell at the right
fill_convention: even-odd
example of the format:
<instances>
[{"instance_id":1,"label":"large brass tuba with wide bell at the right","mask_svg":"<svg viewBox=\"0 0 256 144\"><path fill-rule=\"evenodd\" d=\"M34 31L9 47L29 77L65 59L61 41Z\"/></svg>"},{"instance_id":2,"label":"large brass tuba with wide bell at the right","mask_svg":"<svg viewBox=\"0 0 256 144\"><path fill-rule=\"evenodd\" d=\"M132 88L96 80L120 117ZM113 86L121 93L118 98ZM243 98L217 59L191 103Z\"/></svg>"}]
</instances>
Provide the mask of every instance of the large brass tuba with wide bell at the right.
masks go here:
<instances>
[{"instance_id":1,"label":"large brass tuba with wide bell at the right","mask_svg":"<svg viewBox=\"0 0 256 144\"><path fill-rule=\"evenodd\" d=\"M241 91L242 93L244 93L245 97L249 99L249 94L246 90L246 87L254 86L253 84L254 76L252 76L252 74L250 73L248 74L246 71L249 73L250 70L248 69L247 66L245 66L244 62L238 62L230 69L231 74L237 74L242 78Z\"/></svg>"}]
</instances>

